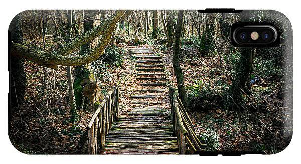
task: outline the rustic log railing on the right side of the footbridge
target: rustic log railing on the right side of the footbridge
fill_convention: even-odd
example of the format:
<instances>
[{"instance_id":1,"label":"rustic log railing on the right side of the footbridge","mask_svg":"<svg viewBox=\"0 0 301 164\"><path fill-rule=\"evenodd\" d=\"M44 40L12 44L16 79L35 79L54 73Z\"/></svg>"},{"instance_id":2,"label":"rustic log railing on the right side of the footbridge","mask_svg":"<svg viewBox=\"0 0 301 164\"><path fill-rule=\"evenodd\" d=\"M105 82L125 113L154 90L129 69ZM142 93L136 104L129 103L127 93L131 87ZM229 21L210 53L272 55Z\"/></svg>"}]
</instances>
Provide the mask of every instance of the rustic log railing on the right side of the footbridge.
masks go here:
<instances>
[{"instance_id":1,"label":"rustic log railing on the right side of the footbridge","mask_svg":"<svg viewBox=\"0 0 301 164\"><path fill-rule=\"evenodd\" d=\"M206 145L200 142L194 132L192 121L178 96L178 90L169 86L169 95L173 130L177 136L179 154L193 154L196 151L202 151Z\"/></svg>"}]
</instances>

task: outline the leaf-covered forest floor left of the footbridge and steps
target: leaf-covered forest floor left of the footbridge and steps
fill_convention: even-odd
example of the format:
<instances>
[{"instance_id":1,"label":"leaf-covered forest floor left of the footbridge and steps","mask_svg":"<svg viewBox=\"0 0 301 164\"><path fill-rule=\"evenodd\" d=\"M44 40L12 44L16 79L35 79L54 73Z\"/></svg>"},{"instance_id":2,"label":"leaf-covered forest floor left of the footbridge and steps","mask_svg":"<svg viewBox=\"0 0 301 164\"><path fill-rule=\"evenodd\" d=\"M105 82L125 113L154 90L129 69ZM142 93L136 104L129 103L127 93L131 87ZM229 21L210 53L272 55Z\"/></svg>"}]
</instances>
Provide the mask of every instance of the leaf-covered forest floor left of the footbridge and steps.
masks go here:
<instances>
[{"instance_id":1,"label":"leaf-covered forest floor left of the footbridge and steps","mask_svg":"<svg viewBox=\"0 0 301 164\"><path fill-rule=\"evenodd\" d=\"M106 76L99 83L103 91L119 85L122 90L132 90L134 76L130 76L134 61L128 55L125 44L123 63L108 66ZM28 87L25 102L11 106L11 131L9 133L13 146L26 154L79 154L81 135L86 131L92 113L78 111L78 119L70 120L66 67L60 66L58 71L45 69L32 62L25 62ZM43 81L46 76L46 86ZM74 77L74 75L73 75ZM45 88L44 97L41 91ZM45 96L47 95L47 96ZM120 110L127 109L130 95L121 93ZM46 99L46 100L45 100ZM42 101L41 101L42 100Z\"/></svg>"}]
</instances>

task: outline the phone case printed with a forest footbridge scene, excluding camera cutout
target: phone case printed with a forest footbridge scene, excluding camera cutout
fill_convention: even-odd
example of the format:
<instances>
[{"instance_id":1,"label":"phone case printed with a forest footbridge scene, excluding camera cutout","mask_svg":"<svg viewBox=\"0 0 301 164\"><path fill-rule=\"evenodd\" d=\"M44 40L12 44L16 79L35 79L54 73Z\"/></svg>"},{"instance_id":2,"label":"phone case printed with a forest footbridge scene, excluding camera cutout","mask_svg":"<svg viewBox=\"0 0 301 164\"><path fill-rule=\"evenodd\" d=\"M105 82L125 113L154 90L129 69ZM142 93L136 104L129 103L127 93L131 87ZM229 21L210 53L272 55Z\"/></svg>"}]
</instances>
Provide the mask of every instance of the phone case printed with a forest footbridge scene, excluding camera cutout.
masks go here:
<instances>
[{"instance_id":1,"label":"phone case printed with a forest footbridge scene, excluding camera cutout","mask_svg":"<svg viewBox=\"0 0 301 164\"><path fill-rule=\"evenodd\" d=\"M280 44L234 47L236 22ZM273 10L27 10L9 72L26 154L274 154L292 137L292 27Z\"/></svg>"}]
</instances>

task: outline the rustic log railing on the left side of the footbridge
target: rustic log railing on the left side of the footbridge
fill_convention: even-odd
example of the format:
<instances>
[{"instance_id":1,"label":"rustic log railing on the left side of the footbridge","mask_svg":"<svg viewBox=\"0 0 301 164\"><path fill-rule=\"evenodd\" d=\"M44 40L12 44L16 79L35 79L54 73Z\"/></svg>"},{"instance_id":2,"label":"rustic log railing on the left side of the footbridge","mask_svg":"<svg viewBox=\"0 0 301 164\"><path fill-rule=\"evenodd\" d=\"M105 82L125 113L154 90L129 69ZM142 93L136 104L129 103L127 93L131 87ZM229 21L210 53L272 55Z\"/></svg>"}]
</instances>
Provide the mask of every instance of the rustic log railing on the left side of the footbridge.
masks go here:
<instances>
[{"instance_id":1,"label":"rustic log railing on the left side of the footbridge","mask_svg":"<svg viewBox=\"0 0 301 164\"><path fill-rule=\"evenodd\" d=\"M94 112L86 127L88 137L83 143L82 154L97 154L97 143L100 149L104 150L105 136L109 133L112 122L118 117L119 92L118 86L113 87Z\"/></svg>"}]
</instances>

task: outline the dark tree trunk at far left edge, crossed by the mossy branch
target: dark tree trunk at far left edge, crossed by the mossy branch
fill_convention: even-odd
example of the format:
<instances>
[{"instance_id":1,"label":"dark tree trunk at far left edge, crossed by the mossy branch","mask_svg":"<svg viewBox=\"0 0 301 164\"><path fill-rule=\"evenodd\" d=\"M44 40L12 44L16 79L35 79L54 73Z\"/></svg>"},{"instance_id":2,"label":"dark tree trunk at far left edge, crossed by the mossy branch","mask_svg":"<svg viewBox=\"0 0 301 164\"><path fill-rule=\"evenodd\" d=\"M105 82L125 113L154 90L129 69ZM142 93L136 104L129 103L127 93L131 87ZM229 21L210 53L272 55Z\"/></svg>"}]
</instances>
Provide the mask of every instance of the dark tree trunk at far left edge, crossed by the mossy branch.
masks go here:
<instances>
[{"instance_id":1,"label":"dark tree trunk at far left edge, crossed by the mossy branch","mask_svg":"<svg viewBox=\"0 0 301 164\"><path fill-rule=\"evenodd\" d=\"M22 44L23 34L21 30L20 15L16 15L9 26L9 37L11 41ZM10 47L11 48L11 47ZM9 71L10 71L10 104L18 106L24 101L26 74L24 71L24 59L9 56ZM21 101L19 101L21 100Z\"/></svg>"}]
</instances>

